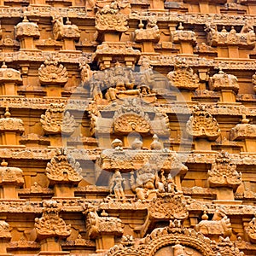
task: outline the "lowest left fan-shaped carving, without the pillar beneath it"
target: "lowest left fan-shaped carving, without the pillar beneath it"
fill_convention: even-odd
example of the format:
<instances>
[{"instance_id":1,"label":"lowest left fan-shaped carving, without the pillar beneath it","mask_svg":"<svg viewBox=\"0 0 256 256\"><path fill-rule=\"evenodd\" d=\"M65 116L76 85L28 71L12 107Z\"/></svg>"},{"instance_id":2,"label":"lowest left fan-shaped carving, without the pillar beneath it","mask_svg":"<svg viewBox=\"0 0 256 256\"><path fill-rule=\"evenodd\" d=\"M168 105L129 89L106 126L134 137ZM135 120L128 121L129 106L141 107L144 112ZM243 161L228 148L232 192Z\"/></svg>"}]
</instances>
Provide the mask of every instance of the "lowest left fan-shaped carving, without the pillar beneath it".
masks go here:
<instances>
[{"instance_id":1,"label":"lowest left fan-shaped carving, without the pillar beneath it","mask_svg":"<svg viewBox=\"0 0 256 256\"><path fill-rule=\"evenodd\" d=\"M57 201L43 201L43 215L41 218L35 218L38 239L70 236L71 225L67 225L59 216L61 207L61 203Z\"/></svg>"}]
</instances>

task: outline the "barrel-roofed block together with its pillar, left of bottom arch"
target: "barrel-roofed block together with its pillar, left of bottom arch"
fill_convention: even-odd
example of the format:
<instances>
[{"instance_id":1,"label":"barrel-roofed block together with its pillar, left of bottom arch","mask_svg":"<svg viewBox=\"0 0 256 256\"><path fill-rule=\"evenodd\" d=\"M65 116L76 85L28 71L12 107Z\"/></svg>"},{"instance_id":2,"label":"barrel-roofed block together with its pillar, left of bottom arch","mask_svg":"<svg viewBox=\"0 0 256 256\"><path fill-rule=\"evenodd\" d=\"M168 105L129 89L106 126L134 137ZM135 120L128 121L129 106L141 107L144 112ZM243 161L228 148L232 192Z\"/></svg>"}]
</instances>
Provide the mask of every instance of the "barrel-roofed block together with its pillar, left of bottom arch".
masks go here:
<instances>
[{"instance_id":1,"label":"barrel-roofed block together with its pillar, left of bottom arch","mask_svg":"<svg viewBox=\"0 0 256 256\"><path fill-rule=\"evenodd\" d=\"M119 218L108 217L107 212L102 212L102 217L99 217L95 210L87 214L86 229L90 239L96 240L96 253L106 252L113 247L114 239L124 232Z\"/></svg>"}]
</instances>

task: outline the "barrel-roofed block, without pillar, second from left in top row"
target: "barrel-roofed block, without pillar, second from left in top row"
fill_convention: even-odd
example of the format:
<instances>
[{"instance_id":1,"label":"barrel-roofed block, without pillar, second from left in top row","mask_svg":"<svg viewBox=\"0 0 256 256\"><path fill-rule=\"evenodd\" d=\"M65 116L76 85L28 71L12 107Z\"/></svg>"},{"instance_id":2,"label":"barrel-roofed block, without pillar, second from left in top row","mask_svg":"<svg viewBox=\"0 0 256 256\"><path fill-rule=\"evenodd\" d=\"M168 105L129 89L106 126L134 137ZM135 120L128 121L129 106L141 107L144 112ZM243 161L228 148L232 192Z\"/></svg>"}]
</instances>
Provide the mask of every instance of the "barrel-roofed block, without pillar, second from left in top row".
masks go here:
<instances>
[{"instance_id":1,"label":"barrel-roofed block, without pillar, second from left in top row","mask_svg":"<svg viewBox=\"0 0 256 256\"><path fill-rule=\"evenodd\" d=\"M76 25L72 25L68 18L65 25L63 24L62 17L53 20L53 23L53 34L55 40L61 40L63 38L73 38L74 40L79 40L79 27Z\"/></svg>"}]
</instances>

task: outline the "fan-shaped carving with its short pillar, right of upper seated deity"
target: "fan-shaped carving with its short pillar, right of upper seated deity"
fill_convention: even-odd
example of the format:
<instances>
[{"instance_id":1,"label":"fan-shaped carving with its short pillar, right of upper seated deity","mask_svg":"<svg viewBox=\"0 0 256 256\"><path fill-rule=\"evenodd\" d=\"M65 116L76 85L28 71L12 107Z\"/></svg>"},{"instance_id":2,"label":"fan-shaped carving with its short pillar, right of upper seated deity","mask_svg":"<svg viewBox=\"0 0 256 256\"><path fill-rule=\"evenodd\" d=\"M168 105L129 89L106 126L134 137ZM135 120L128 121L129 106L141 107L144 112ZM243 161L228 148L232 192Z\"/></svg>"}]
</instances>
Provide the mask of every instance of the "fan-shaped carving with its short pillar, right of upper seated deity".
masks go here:
<instances>
[{"instance_id":1,"label":"fan-shaped carving with its short pillar, right of upper seated deity","mask_svg":"<svg viewBox=\"0 0 256 256\"><path fill-rule=\"evenodd\" d=\"M174 71L168 73L167 78L170 80L171 87L178 89L174 90L177 94L177 101L191 101L193 91L199 87L199 78L185 59L177 58Z\"/></svg>"}]
</instances>

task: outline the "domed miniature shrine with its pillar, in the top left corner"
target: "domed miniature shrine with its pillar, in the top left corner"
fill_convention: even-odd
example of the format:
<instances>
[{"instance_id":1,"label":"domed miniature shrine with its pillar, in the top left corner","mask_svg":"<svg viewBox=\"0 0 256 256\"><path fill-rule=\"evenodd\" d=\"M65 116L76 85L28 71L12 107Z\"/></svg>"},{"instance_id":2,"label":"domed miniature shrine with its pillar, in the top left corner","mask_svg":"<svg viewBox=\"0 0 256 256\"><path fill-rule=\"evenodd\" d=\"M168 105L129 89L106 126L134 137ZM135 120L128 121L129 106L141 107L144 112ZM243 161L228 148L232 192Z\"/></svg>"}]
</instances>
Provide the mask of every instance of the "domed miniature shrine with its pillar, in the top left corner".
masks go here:
<instances>
[{"instance_id":1,"label":"domed miniature shrine with its pillar, in the top left corner","mask_svg":"<svg viewBox=\"0 0 256 256\"><path fill-rule=\"evenodd\" d=\"M38 50L34 44L34 39L40 38L38 25L27 20L26 16L15 26L15 34L16 38L20 40L20 49Z\"/></svg>"}]
</instances>

